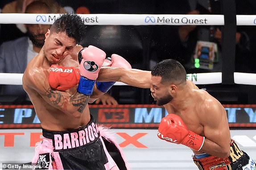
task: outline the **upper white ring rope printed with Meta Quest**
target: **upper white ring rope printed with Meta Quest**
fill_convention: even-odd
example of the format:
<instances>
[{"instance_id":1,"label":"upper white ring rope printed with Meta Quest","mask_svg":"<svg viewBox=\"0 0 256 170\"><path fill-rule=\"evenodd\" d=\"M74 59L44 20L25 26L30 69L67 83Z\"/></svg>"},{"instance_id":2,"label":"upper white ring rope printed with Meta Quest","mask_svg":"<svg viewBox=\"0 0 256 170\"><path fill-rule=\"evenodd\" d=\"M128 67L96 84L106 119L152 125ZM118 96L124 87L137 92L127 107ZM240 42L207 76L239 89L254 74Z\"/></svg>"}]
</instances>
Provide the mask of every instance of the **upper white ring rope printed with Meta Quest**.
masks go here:
<instances>
[{"instance_id":1,"label":"upper white ring rope printed with Meta Quest","mask_svg":"<svg viewBox=\"0 0 256 170\"><path fill-rule=\"evenodd\" d=\"M223 15L79 14L87 25L224 25ZM0 14L0 24L53 24L59 14ZM237 25L256 25L256 15L237 15Z\"/></svg>"}]
</instances>

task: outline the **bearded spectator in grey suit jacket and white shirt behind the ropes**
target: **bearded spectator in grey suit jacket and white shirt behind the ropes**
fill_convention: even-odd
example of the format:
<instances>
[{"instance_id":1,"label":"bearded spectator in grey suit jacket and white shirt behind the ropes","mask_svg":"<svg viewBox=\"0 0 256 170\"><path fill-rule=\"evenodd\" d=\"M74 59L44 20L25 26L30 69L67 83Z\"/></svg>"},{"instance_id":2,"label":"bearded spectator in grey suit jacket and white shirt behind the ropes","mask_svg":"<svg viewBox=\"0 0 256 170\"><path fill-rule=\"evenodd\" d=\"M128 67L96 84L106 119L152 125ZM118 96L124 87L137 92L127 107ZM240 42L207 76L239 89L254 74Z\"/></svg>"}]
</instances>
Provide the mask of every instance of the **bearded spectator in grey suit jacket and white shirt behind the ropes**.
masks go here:
<instances>
[{"instance_id":1,"label":"bearded spectator in grey suit jacket and white shirt behind the ropes","mask_svg":"<svg viewBox=\"0 0 256 170\"><path fill-rule=\"evenodd\" d=\"M50 13L47 4L35 1L29 4L25 13ZM51 25L25 24L26 35L16 40L7 41L0 46L0 72L23 73L29 61L36 56L45 42L45 33ZM26 93L21 85L1 85L1 95L20 96Z\"/></svg>"}]
</instances>

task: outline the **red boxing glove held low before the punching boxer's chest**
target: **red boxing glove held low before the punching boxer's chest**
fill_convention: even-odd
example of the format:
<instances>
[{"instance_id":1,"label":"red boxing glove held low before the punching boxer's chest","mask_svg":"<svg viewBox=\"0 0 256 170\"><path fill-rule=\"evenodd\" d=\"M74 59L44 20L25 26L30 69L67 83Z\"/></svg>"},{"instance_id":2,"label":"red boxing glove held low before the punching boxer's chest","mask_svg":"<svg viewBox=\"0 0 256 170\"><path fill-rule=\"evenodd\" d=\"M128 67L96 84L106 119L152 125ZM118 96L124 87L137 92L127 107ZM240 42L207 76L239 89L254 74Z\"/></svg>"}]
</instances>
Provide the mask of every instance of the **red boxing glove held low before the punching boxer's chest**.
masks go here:
<instances>
[{"instance_id":1,"label":"red boxing glove held low before the punching boxer's chest","mask_svg":"<svg viewBox=\"0 0 256 170\"><path fill-rule=\"evenodd\" d=\"M202 148L205 139L188 130L182 119L174 114L169 114L161 120L157 136L167 142L183 144L196 151Z\"/></svg>"}]
</instances>

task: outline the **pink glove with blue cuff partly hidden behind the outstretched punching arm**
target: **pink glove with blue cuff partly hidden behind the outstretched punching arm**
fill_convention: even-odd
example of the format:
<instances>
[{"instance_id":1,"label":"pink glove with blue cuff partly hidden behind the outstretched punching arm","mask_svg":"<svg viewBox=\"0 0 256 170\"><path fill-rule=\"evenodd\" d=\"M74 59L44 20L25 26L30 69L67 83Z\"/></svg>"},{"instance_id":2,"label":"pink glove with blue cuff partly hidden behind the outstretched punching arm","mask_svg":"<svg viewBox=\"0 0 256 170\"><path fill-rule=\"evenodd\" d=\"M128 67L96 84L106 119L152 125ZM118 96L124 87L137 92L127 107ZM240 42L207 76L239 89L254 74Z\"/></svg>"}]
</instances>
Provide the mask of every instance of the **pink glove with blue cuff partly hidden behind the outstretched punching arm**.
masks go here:
<instances>
[{"instance_id":1,"label":"pink glove with blue cuff partly hidden behind the outstretched punching arm","mask_svg":"<svg viewBox=\"0 0 256 170\"><path fill-rule=\"evenodd\" d=\"M117 54L112 54L104 60L103 66L132 68L126 59ZM103 93L106 93L116 82L97 82L97 87Z\"/></svg>"}]
</instances>

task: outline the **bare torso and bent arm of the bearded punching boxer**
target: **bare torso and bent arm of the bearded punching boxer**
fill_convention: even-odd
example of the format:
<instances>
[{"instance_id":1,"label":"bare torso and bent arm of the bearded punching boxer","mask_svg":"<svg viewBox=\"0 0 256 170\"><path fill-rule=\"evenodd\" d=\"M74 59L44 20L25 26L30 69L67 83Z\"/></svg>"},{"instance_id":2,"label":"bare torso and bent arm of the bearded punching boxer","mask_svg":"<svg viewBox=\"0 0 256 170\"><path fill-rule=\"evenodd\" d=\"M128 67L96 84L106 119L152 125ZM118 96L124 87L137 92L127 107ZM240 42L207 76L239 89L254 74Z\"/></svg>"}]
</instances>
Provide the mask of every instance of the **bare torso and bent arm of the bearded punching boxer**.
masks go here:
<instances>
[{"instance_id":1,"label":"bare torso and bent arm of the bearded punching boxer","mask_svg":"<svg viewBox=\"0 0 256 170\"><path fill-rule=\"evenodd\" d=\"M186 86L180 94L182 98L166 104L165 109L180 116L189 130L206 137L202 150L193 150L194 154L207 152L216 155L221 150L229 150L231 138L224 107L190 80Z\"/></svg>"}]
</instances>

